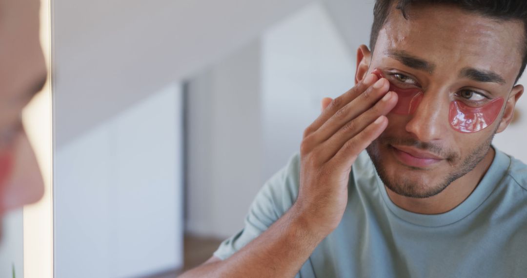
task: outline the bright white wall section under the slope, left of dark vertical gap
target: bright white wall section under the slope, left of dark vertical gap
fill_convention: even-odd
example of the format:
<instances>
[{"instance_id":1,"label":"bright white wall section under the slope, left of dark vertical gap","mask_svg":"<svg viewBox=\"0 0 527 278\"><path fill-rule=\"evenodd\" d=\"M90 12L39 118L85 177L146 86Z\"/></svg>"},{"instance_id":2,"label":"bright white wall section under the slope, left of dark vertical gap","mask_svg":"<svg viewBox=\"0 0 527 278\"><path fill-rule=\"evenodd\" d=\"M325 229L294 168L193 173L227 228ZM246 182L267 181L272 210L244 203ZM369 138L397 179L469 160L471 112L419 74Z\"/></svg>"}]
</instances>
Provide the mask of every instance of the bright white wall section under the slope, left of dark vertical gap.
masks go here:
<instances>
[{"instance_id":1,"label":"bright white wall section under the slope, left of dark vertical gap","mask_svg":"<svg viewBox=\"0 0 527 278\"><path fill-rule=\"evenodd\" d=\"M55 152L55 277L182 265L181 105L169 85Z\"/></svg>"}]
</instances>

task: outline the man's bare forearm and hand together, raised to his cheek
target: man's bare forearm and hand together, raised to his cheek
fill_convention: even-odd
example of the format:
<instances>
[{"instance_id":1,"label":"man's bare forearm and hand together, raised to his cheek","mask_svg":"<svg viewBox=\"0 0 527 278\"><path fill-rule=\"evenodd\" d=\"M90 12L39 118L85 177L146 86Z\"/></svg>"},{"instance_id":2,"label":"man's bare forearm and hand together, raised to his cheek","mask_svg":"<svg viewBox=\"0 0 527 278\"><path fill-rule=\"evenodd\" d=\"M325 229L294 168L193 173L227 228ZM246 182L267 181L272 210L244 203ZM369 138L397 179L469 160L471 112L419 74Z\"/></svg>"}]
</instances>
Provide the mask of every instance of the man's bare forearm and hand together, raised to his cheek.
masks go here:
<instances>
[{"instance_id":1,"label":"man's bare forearm and hand together, raised to his cheek","mask_svg":"<svg viewBox=\"0 0 527 278\"><path fill-rule=\"evenodd\" d=\"M294 205L264 233L225 261L214 260L182 277L292 277L340 222L353 162L387 126L397 103L389 83L369 75L331 101L304 132L300 187ZM383 96L387 96L383 98ZM383 100L380 100L383 98Z\"/></svg>"}]
</instances>

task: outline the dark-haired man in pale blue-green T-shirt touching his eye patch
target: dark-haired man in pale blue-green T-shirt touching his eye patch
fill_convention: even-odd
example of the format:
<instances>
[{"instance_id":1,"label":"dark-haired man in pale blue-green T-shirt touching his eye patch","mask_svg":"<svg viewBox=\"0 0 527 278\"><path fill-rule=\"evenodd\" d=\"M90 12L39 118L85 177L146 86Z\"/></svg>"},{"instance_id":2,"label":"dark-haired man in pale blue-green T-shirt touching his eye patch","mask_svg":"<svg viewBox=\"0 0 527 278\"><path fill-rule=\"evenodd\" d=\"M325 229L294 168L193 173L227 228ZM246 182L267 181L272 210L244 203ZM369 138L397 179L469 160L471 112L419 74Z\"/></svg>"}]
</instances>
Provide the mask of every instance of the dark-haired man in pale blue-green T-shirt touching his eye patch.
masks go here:
<instances>
[{"instance_id":1,"label":"dark-haired man in pale blue-green T-shirt touching his eye patch","mask_svg":"<svg viewBox=\"0 0 527 278\"><path fill-rule=\"evenodd\" d=\"M525 275L527 166L491 142L523 93L527 4L377 0L374 15L356 86L183 276Z\"/></svg>"}]
</instances>

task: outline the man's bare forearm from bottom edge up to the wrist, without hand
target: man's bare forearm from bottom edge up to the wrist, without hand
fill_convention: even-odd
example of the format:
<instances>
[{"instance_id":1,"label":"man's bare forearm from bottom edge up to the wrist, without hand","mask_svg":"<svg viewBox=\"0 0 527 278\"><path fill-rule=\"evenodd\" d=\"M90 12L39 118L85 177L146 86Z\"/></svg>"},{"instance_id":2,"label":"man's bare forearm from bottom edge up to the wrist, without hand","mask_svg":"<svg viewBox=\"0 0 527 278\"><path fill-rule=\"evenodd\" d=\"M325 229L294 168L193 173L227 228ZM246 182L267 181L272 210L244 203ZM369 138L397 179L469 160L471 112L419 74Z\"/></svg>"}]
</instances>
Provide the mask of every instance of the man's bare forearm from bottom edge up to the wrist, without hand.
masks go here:
<instances>
[{"instance_id":1,"label":"man's bare forearm from bottom edge up to the wrist, without hand","mask_svg":"<svg viewBox=\"0 0 527 278\"><path fill-rule=\"evenodd\" d=\"M229 259L181 277L294 277L325 235L311 232L294 207Z\"/></svg>"}]
</instances>

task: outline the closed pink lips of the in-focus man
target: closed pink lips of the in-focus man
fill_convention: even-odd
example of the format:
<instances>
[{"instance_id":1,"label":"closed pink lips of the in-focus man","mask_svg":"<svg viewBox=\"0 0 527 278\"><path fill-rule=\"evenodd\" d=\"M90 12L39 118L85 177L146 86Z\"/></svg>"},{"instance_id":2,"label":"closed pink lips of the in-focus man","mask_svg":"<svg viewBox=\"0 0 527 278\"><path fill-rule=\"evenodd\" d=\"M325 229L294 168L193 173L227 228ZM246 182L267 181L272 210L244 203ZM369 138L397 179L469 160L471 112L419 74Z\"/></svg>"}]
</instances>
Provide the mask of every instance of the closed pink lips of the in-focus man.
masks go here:
<instances>
[{"instance_id":1,"label":"closed pink lips of the in-focus man","mask_svg":"<svg viewBox=\"0 0 527 278\"><path fill-rule=\"evenodd\" d=\"M444 160L436 154L414 147L393 145L389 145L389 147L399 162L411 167L426 168Z\"/></svg>"}]
</instances>

